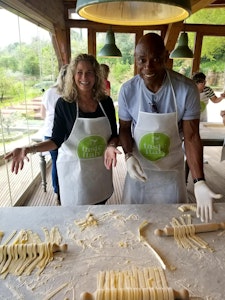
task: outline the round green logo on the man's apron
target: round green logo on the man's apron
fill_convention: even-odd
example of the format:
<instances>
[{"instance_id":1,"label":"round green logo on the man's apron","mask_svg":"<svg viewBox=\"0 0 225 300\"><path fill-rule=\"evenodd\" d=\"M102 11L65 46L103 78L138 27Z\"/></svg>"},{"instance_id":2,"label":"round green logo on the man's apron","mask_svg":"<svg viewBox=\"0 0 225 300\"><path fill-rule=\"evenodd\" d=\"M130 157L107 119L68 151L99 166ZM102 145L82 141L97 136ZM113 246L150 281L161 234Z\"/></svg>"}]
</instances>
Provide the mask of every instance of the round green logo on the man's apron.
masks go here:
<instances>
[{"instance_id":1,"label":"round green logo on the man's apron","mask_svg":"<svg viewBox=\"0 0 225 300\"><path fill-rule=\"evenodd\" d=\"M148 133L139 142L140 153L148 160L159 160L169 153L170 139L164 133Z\"/></svg>"}]
</instances>

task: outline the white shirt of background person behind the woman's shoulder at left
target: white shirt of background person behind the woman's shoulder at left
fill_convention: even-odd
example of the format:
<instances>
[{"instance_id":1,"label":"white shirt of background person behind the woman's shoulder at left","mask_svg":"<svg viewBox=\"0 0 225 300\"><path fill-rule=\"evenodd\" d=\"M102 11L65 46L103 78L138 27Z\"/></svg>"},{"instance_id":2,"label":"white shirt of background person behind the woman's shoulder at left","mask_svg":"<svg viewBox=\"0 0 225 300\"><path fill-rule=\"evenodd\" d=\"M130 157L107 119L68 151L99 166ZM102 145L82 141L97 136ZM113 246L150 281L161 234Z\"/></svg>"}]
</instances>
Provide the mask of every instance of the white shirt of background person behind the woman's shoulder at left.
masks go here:
<instances>
[{"instance_id":1,"label":"white shirt of background person behind the woman's shoulder at left","mask_svg":"<svg viewBox=\"0 0 225 300\"><path fill-rule=\"evenodd\" d=\"M42 97L42 104L46 109L45 122L43 127L44 136L52 136L52 128L55 115L55 106L57 100L60 98L60 95L57 93L56 87L51 87L46 90Z\"/></svg>"}]
</instances>

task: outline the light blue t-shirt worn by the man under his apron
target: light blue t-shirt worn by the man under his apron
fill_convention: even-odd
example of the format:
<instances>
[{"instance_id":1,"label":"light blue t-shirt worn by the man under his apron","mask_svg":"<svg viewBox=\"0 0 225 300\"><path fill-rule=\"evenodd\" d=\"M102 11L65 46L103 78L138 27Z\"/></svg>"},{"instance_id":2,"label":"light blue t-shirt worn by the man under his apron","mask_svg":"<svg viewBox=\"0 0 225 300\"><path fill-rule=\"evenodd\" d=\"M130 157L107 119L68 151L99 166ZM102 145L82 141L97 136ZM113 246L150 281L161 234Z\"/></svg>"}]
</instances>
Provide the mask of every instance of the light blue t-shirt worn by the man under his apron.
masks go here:
<instances>
[{"instance_id":1,"label":"light blue t-shirt worn by the man under his apron","mask_svg":"<svg viewBox=\"0 0 225 300\"><path fill-rule=\"evenodd\" d=\"M189 78L167 70L175 92L179 131L182 132L181 120L194 120L200 117L200 96L196 84ZM153 93L147 89L144 80L136 75L125 82L119 93L119 119L132 121L135 126L138 118L139 103L142 99L141 110L144 112L154 112L154 103L159 113L170 113L175 111L174 98L171 85L166 77L163 85L158 92Z\"/></svg>"}]
</instances>

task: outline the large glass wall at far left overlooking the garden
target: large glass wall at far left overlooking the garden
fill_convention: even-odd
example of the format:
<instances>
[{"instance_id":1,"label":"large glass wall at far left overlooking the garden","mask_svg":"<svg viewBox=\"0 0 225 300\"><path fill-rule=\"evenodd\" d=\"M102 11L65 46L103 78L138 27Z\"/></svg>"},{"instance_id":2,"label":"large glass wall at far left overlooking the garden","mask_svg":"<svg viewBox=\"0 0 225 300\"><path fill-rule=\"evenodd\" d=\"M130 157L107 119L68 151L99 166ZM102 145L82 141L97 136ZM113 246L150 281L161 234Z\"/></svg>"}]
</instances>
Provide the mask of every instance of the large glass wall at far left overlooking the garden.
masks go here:
<instances>
[{"instance_id":1,"label":"large glass wall at far left overlooking the garden","mask_svg":"<svg viewBox=\"0 0 225 300\"><path fill-rule=\"evenodd\" d=\"M0 36L0 206L13 206L39 173L39 155L29 155L18 175L3 157L31 144L43 126L42 92L55 82L58 65L49 32L1 8Z\"/></svg>"}]
</instances>

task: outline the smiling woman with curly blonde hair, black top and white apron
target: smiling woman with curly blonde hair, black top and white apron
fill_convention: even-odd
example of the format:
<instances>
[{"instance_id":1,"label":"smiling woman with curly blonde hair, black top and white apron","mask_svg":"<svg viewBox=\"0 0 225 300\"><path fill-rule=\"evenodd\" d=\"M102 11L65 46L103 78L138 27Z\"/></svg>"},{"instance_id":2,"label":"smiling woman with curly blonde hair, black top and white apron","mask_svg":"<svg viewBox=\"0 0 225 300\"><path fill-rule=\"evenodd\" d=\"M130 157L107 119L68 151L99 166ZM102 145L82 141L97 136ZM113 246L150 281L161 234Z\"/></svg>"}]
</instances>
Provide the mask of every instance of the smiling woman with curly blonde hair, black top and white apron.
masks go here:
<instances>
[{"instance_id":1,"label":"smiling woman with curly blonde hair, black top and white apron","mask_svg":"<svg viewBox=\"0 0 225 300\"><path fill-rule=\"evenodd\" d=\"M104 204L113 193L112 167L118 144L113 101L105 95L94 56L80 54L67 67L65 85L56 103L49 140L16 148L12 172L23 169L28 153L59 149L57 170L62 206Z\"/></svg>"}]
</instances>

